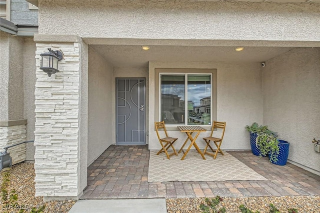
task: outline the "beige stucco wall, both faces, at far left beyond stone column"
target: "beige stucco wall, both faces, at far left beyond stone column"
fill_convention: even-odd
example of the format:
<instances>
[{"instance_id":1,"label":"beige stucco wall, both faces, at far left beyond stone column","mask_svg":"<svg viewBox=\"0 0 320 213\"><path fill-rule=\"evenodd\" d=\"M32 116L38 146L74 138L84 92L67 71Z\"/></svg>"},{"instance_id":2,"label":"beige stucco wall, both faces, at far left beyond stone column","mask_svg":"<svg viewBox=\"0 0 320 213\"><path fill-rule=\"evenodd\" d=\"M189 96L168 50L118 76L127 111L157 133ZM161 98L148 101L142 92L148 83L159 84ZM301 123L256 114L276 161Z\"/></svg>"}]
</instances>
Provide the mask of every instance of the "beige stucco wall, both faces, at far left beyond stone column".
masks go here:
<instances>
[{"instance_id":1,"label":"beige stucco wall, both faces, at far left beyond stone column","mask_svg":"<svg viewBox=\"0 0 320 213\"><path fill-rule=\"evenodd\" d=\"M26 140L34 139L35 42L1 32L0 120L27 119ZM34 160L34 146L26 144L26 160Z\"/></svg>"}]
</instances>

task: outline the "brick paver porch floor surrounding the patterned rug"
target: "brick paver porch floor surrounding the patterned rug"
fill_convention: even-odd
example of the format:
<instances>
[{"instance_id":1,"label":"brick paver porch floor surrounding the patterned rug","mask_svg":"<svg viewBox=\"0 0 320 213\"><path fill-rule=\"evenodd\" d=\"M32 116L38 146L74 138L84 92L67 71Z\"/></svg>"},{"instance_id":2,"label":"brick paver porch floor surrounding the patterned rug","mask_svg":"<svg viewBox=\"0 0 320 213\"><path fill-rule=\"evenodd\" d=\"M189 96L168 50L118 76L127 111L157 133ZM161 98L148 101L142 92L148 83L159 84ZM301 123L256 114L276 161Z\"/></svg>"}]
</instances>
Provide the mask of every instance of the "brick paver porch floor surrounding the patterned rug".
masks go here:
<instances>
[{"instance_id":1,"label":"brick paver porch floor surrounding the patterned rug","mask_svg":"<svg viewBox=\"0 0 320 213\"><path fill-rule=\"evenodd\" d=\"M81 199L320 195L316 174L291 163L274 165L251 151L227 152L268 180L148 182L147 145L111 145L88 167Z\"/></svg>"}]
</instances>

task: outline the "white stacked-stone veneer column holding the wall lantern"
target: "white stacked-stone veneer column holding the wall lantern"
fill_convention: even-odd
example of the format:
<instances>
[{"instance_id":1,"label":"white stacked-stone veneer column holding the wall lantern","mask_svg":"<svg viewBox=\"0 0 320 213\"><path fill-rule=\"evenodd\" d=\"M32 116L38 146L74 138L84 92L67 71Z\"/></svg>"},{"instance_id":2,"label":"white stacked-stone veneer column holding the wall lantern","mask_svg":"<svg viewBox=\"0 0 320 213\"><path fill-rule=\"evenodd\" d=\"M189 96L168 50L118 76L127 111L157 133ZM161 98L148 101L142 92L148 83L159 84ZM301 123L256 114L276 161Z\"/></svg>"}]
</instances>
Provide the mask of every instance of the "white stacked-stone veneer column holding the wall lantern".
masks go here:
<instances>
[{"instance_id":1,"label":"white stacked-stone veneer column holding the wall lantern","mask_svg":"<svg viewBox=\"0 0 320 213\"><path fill-rule=\"evenodd\" d=\"M79 42L36 43L35 196L44 199L78 198L85 187L79 178L83 170L83 165L80 166L80 46ZM47 52L47 48L59 49L64 54L58 63L60 71L51 77L39 69L40 53ZM86 170L83 175L86 183Z\"/></svg>"}]
</instances>

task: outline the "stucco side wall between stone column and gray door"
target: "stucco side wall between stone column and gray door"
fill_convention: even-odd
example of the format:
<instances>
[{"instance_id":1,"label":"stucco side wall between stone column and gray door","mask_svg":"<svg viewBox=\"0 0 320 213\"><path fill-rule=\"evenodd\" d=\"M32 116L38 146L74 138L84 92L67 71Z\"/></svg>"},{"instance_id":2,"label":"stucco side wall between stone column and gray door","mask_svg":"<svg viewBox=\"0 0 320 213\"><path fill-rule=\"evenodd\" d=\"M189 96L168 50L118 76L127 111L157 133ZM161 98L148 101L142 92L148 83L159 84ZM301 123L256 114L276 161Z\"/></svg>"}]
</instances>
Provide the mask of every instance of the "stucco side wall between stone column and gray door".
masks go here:
<instances>
[{"instance_id":1,"label":"stucco side wall between stone column and gray door","mask_svg":"<svg viewBox=\"0 0 320 213\"><path fill-rule=\"evenodd\" d=\"M112 130L113 67L88 48L88 165L114 141Z\"/></svg>"}]
</instances>

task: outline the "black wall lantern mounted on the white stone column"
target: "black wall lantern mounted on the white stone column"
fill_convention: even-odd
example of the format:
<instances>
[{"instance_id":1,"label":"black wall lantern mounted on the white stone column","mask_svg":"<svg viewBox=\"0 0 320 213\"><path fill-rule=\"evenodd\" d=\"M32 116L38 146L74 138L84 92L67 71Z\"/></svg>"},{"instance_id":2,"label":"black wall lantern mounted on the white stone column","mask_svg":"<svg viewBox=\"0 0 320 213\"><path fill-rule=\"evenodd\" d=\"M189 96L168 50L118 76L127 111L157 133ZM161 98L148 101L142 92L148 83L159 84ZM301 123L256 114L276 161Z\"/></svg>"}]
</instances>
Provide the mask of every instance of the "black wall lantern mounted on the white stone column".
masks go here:
<instances>
[{"instance_id":1,"label":"black wall lantern mounted on the white stone column","mask_svg":"<svg viewBox=\"0 0 320 213\"><path fill-rule=\"evenodd\" d=\"M48 52L41 53L41 67L44 72L51 76L58 72L58 61L62 59L63 53L60 50L51 50L48 48Z\"/></svg>"}]
</instances>

